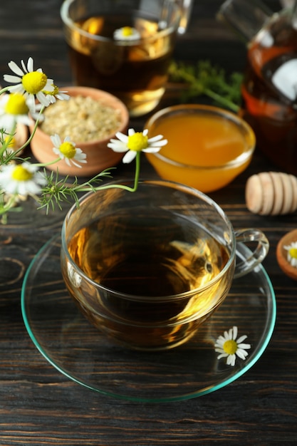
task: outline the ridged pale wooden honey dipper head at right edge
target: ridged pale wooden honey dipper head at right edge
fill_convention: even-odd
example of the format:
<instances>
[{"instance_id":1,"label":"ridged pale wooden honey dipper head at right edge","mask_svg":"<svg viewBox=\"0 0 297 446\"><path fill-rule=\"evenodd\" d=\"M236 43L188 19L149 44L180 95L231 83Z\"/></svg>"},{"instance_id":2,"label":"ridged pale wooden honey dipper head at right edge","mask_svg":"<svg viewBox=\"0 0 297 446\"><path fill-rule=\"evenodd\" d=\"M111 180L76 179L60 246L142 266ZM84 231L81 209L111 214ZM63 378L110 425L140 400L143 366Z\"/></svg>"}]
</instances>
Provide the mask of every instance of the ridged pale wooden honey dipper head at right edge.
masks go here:
<instances>
[{"instance_id":1,"label":"ridged pale wooden honey dipper head at right edge","mask_svg":"<svg viewBox=\"0 0 297 446\"><path fill-rule=\"evenodd\" d=\"M246 182L246 207L254 214L283 215L297 209L297 178L283 172L261 172Z\"/></svg>"}]
</instances>

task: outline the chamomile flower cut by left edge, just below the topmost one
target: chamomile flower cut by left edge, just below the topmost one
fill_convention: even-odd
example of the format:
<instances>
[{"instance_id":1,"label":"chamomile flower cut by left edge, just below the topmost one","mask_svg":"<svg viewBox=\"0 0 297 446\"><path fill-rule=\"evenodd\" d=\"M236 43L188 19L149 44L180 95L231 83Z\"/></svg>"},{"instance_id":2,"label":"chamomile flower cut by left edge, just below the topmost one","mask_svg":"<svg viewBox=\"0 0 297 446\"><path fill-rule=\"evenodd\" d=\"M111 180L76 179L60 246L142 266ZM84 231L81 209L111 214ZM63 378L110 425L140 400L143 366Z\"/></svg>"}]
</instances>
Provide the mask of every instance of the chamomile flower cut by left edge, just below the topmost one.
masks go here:
<instances>
[{"instance_id":1,"label":"chamomile flower cut by left edge, just below the topmost one","mask_svg":"<svg viewBox=\"0 0 297 446\"><path fill-rule=\"evenodd\" d=\"M11 132L16 123L29 125L31 120L26 98L21 93L0 96L0 128Z\"/></svg>"}]
</instances>

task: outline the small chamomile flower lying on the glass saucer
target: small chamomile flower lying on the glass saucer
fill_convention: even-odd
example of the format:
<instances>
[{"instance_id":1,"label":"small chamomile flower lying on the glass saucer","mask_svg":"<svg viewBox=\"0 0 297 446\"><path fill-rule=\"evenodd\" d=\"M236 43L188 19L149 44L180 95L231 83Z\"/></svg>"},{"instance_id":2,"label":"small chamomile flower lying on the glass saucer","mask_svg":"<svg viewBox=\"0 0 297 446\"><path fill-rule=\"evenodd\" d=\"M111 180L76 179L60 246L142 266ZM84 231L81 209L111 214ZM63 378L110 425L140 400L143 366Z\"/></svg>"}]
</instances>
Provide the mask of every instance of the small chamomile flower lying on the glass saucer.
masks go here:
<instances>
[{"instance_id":1,"label":"small chamomile flower lying on the glass saucer","mask_svg":"<svg viewBox=\"0 0 297 446\"><path fill-rule=\"evenodd\" d=\"M249 354L246 349L251 348L250 344L242 343L247 336L240 336L240 338L236 339L237 333L238 329L234 326L229 331L225 331L224 336L219 336L214 344L215 351L220 353L218 359L226 358L226 363L232 366L235 365L236 356L245 359Z\"/></svg>"}]
</instances>

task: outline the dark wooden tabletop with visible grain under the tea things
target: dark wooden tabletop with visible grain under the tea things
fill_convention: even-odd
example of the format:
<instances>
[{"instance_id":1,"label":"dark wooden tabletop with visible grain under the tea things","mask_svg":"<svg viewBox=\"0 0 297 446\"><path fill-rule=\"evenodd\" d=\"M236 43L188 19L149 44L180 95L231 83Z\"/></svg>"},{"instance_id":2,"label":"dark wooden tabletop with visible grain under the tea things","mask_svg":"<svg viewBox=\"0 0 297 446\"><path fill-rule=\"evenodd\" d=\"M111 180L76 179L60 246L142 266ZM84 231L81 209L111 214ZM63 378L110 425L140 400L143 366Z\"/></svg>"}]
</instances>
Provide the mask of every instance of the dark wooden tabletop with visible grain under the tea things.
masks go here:
<instances>
[{"instance_id":1,"label":"dark wooden tabletop with visible grain under the tea things","mask_svg":"<svg viewBox=\"0 0 297 446\"><path fill-rule=\"evenodd\" d=\"M214 19L219 0L195 0L189 32L176 58L208 58L242 70L243 43ZM277 1L267 1L278 9ZM71 83L59 7L61 0L9 0L0 4L0 73L10 60L33 56L58 85ZM197 99L199 101L199 98ZM142 120L132 122L141 127ZM129 175L120 166L117 175ZM146 175L152 169L143 167ZM271 244L264 266L276 293L276 327L259 361L214 393L176 403L115 400L68 380L48 363L26 332L20 294L38 249L61 228L64 213L31 213L0 227L0 445L294 445L297 440L297 283L278 267L276 244L296 228L297 215L260 217L244 202L247 178L276 170L256 150L244 174L214 192L234 227L259 227Z\"/></svg>"}]
</instances>

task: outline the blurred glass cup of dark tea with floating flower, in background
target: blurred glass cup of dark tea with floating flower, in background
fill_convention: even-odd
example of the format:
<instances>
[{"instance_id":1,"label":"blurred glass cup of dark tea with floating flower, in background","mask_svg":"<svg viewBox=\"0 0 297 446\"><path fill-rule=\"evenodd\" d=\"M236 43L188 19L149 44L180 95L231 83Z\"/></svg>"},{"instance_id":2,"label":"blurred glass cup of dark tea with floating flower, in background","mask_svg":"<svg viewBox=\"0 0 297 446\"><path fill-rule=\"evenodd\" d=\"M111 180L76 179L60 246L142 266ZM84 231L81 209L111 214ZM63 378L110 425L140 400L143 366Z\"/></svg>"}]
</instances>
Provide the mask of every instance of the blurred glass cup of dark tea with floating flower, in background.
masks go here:
<instances>
[{"instance_id":1,"label":"blurred glass cup of dark tea with floating flower, in background","mask_svg":"<svg viewBox=\"0 0 297 446\"><path fill-rule=\"evenodd\" d=\"M74 83L112 93L131 116L150 112L165 93L191 6L192 0L65 0L61 18ZM117 30L122 37L114 37Z\"/></svg>"}]
</instances>

